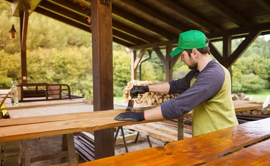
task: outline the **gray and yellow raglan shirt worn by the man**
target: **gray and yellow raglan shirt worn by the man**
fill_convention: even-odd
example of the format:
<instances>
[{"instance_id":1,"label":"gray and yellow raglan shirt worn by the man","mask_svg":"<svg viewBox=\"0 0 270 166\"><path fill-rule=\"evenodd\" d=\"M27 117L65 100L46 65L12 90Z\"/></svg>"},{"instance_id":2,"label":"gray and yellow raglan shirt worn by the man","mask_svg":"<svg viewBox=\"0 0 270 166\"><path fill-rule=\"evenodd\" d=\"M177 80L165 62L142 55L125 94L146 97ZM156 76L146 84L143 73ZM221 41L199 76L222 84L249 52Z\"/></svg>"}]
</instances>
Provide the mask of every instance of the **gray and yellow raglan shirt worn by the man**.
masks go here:
<instances>
[{"instance_id":1,"label":"gray and yellow raglan shirt worn by the man","mask_svg":"<svg viewBox=\"0 0 270 166\"><path fill-rule=\"evenodd\" d=\"M230 73L216 60L211 60L201 72L190 70L184 78L169 84L169 94L180 95L161 104L162 115L171 120L192 111L192 136L238 125Z\"/></svg>"}]
</instances>

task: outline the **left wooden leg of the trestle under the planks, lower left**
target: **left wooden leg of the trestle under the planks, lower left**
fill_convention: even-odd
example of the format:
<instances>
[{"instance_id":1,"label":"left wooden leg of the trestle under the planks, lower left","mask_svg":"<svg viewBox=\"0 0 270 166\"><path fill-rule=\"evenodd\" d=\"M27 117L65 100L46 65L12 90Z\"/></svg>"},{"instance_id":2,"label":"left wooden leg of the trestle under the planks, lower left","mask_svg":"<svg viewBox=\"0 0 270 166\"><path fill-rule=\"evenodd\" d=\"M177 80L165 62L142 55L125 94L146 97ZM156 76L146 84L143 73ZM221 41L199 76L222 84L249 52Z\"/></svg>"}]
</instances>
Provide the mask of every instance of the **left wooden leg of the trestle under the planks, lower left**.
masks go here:
<instances>
[{"instance_id":1,"label":"left wooden leg of the trestle under the planks, lower left","mask_svg":"<svg viewBox=\"0 0 270 166\"><path fill-rule=\"evenodd\" d=\"M19 166L30 165L30 145L27 140L20 141Z\"/></svg>"}]
</instances>

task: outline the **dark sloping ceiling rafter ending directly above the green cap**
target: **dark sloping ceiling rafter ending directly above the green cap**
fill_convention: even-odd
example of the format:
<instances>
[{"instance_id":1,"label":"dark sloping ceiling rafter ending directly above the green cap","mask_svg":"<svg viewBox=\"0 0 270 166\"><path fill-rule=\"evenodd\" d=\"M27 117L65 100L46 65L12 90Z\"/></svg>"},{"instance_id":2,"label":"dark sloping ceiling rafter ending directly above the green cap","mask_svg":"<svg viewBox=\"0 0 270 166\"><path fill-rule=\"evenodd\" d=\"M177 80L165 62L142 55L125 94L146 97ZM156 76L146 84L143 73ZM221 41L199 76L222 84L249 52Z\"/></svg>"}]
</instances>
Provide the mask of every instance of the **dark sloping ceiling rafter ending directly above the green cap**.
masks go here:
<instances>
[{"instance_id":1,"label":"dark sloping ceiling rafter ending directly above the green cap","mask_svg":"<svg viewBox=\"0 0 270 166\"><path fill-rule=\"evenodd\" d=\"M146 0L149 3L154 3L152 0ZM163 7L167 7L167 9L172 10L175 16L185 17L187 21L196 25L198 29L202 29L202 31L214 32L221 30L210 22L202 19L201 17L193 14L188 9L179 6L173 1L164 1L164 0L156 0L155 3L161 4Z\"/></svg>"}]
</instances>

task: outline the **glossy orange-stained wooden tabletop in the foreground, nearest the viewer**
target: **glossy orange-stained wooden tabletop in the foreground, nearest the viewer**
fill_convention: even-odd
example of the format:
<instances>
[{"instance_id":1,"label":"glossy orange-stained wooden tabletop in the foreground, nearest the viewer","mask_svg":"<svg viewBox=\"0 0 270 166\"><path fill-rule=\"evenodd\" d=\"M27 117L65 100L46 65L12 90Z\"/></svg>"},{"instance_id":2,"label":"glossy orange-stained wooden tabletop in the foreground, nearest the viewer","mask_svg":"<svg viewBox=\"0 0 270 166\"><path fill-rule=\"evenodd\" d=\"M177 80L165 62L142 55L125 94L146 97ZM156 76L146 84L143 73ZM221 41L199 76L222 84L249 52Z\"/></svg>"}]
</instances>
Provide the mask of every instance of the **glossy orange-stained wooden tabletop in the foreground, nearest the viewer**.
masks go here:
<instances>
[{"instance_id":1,"label":"glossy orange-stained wooden tabletop in the foreground, nearest the viewer","mask_svg":"<svg viewBox=\"0 0 270 166\"><path fill-rule=\"evenodd\" d=\"M239 150L270 136L270 118L217 130L200 136L170 142L123 155L107 157L78 166L170 166L170 165L270 165L270 139L224 158L221 155ZM262 146L262 147L261 147ZM241 158L238 158L241 156ZM244 156L244 158L243 158ZM256 159L256 161L254 161Z\"/></svg>"}]
</instances>

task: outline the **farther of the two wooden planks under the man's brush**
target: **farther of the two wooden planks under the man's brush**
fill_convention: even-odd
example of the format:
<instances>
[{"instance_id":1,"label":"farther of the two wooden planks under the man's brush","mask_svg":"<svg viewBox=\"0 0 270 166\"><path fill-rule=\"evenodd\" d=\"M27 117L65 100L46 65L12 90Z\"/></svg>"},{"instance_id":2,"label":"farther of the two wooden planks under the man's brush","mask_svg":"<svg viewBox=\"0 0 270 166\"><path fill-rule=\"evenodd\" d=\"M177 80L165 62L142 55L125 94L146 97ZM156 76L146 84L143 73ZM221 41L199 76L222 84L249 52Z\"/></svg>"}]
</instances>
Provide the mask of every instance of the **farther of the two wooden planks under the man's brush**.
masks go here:
<instances>
[{"instance_id":1,"label":"farther of the two wooden planks under the man's brush","mask_svg":"<svg viewBox=\"0 0 270 166\"><path fill-rule=\"evenodd\" d=\"M149 110L151 108L155 108L157 106L150 107L140 107L133 108L132 111L142 111ZM262 105L259 104L235 104L235 111L243 111L243 110L253 110L260 109ZM81 113L66 113L61 115L48 115L48 116L34 116L29 118L28 116L24 118L15 118L15 119L1 119L0 127L7 127L13 125L28 125L28 124L37 124L37 123L45 123L45 122L58 122L65 120L76 120L76 119L84 119L84 118L98 118L98 117L106 117L106 116L116 116L119 113L125 112L125 109L118 110L107 110L104 111L94 111L94 112L81 112ZM40 113L39 115L44 115L45 113ZM183 118L191 117L191 111L187 113Z\"/></svg>"}]
</instances>

